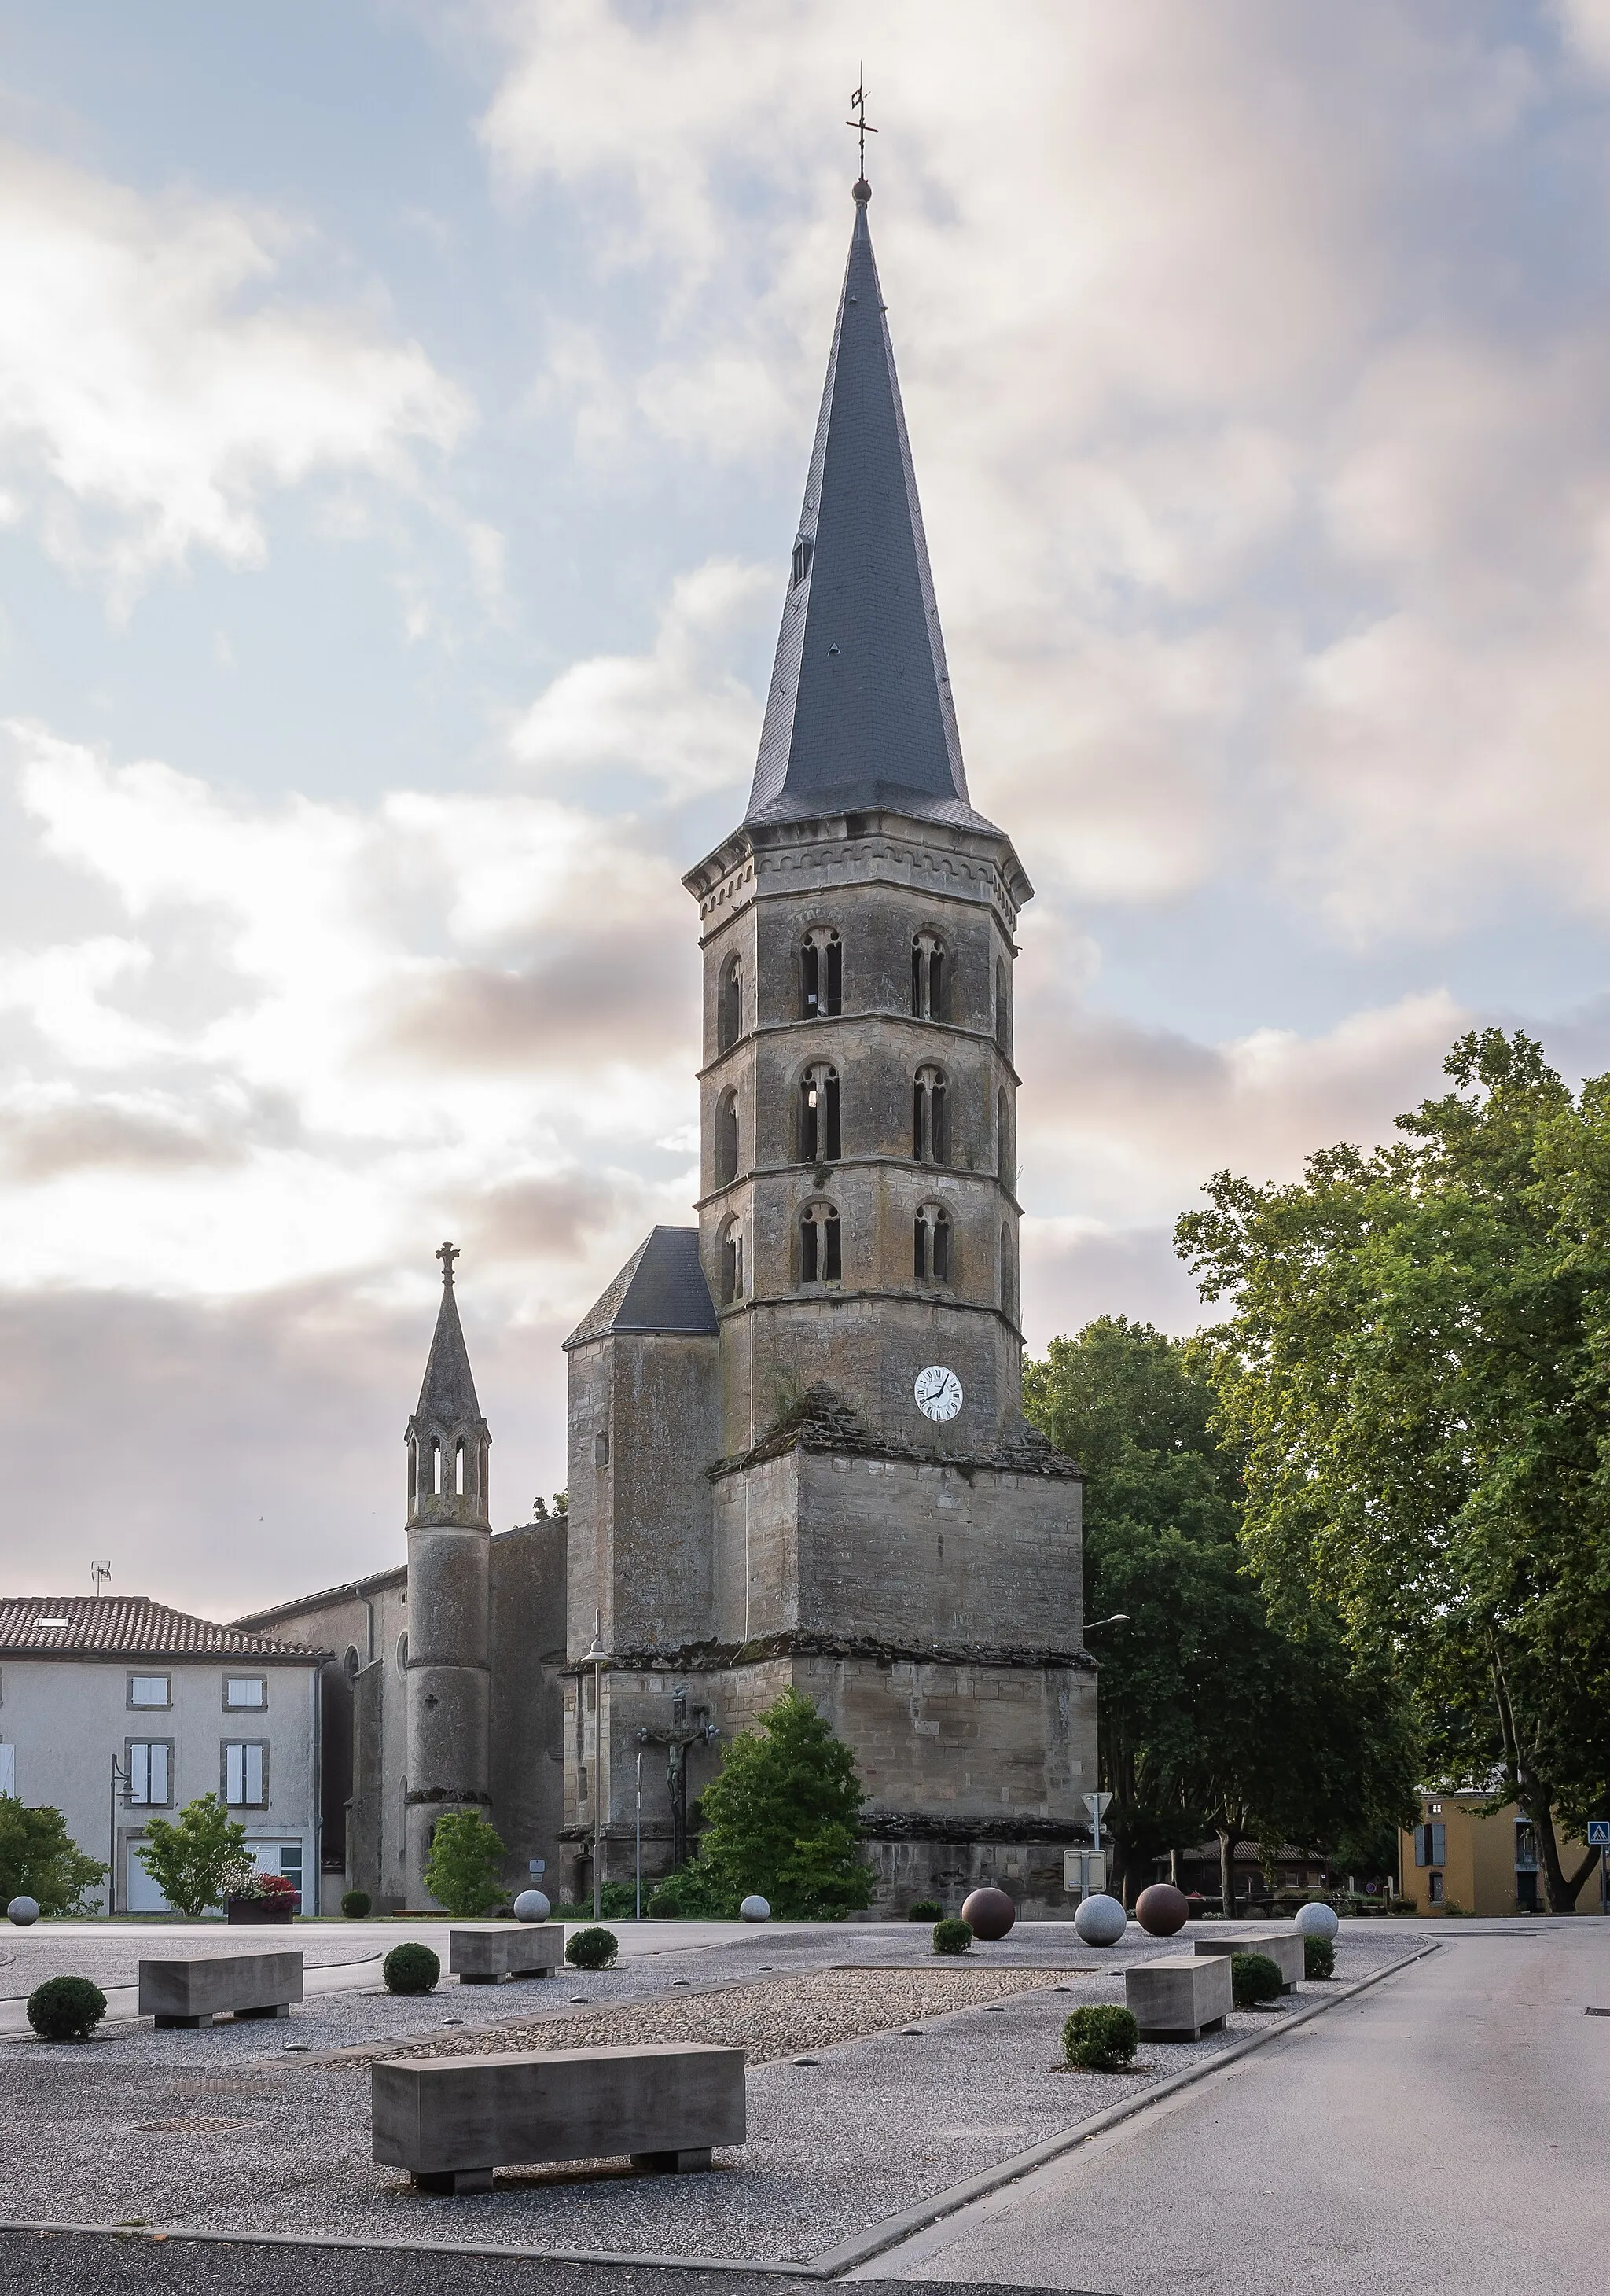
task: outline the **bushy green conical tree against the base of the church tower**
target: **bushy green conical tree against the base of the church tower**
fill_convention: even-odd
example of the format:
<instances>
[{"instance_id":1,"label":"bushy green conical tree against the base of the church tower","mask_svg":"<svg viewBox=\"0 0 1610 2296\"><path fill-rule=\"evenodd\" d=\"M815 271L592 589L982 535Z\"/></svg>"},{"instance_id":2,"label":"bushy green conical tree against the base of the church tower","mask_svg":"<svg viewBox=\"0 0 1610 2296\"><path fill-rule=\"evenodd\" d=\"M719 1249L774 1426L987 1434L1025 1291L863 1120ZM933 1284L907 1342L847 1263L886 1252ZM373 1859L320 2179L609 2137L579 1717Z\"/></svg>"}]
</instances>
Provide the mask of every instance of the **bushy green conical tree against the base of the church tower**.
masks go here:
<instances>
[{"instance_id":1,"label":"bushy green conical tree against the base of the church tower","mask_svg":"<svg viewBox=\"0 0 1610 2296\"><path fill-rule=\"evenodd\" d=\"M728 1745L721 1775L700 1795L705 1828L689 1869L698 1894L730 1913L758 1892L792 1922L859 1913L873 1901L873 1874L861 1860L864 1800L850 1747L811 1699L785 1690L760 1715L760 1729Z\"/></svg>"}]
</instances>

